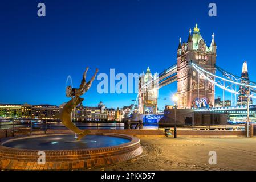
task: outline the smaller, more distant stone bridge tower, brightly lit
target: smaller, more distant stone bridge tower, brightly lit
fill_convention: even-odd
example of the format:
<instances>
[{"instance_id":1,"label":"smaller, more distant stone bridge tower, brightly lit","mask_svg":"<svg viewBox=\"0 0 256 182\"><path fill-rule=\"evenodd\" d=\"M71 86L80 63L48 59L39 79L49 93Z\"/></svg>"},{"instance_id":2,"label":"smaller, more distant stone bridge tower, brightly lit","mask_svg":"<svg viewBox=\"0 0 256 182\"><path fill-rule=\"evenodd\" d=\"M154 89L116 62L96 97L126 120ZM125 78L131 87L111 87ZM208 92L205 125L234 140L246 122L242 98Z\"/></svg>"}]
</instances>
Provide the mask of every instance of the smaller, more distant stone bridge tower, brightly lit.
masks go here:
<instances>
[{"instance_id":1,"label":"smaller, more distant stone bridge tower, brightly lit","mask_svg":"<svg viewBox=\"0 0 256 182\"><path fill-rule=\"evenodd\" d=\"M147 72L145 74L142 73L139 78L139 114L157 113L158 90L158 74L152 75L148 67Z\"/></svg>"}]
</instances>

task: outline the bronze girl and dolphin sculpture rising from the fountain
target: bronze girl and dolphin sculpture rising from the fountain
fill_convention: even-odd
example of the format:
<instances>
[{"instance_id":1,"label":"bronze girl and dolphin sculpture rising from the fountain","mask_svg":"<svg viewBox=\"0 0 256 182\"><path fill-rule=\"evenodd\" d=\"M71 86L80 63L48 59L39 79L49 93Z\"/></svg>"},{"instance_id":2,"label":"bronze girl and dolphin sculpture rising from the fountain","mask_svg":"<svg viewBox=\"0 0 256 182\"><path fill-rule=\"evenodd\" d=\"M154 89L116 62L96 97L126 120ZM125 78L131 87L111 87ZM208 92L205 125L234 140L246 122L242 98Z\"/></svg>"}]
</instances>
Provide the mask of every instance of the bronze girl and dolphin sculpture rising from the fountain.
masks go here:
<instances>
[{"instance_id":1,"label":"bronze girl and dolphin sculpture rising from the fountain","mask_svg":"<svg viewBox=\"0 0 256 182\"><path fill-rule=\"evenodd\" d=\"M72 122L72 111L74 111L76 106L78 106L84 100L84 98L80 98L80 96L82 96L84 93L88 91L88 89L90 89L92 81L95 80L96 74L99 71L98 69L96 69L96 72L94 73L94 76L92 76L91 80L86 82L86 73L88 69L89 68L87 67L86 71L84 71L83 80L81 81L81 84L78 89L71 88L71 86L67 86L66 96L71 97L71 100L63 106L63 109L60 111L59 114L59 119L60 121L62 121L63 125L70 129L71 131L73 131L74 133L78 134L78 138L76 140L80 140L88 133L91 133L90 130L79 129Z\"/></svg>"}]
</instances>

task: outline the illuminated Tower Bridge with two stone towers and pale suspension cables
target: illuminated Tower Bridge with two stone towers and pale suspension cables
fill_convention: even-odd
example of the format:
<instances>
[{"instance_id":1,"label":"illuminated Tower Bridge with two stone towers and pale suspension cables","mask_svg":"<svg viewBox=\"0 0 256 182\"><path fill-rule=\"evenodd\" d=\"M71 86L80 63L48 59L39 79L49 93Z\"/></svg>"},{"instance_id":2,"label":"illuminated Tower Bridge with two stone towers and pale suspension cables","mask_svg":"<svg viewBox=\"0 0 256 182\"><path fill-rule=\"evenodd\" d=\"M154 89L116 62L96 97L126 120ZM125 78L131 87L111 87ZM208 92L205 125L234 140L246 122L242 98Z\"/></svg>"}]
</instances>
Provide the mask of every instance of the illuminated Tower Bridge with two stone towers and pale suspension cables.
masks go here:
<instances>
[{"instance_id":1,"label":"illuminated Tower Bridge with two stone towers and pale suspension cables","mask_svg":"<svg viewBox=\"0 0 256 182\"><path fill-rule=\"evenodd\" d=\"M151 73L150 69L140 75L139 92L131 110L137 114L156 114L159 89L177 81L177 108L198 111L226 111L227 108L215 108L216 87L231 94L232 109L249 105L256 98L256 83L249 80L247 64L243 64L242 76L236 76L216 65L216 42L214 34L208 46L201 36L197 24L189 30L187 42L181 42L177 48L177 61L160 74ZM243 108L245 109L245 108Z\"/></svg>"}]
</instances>

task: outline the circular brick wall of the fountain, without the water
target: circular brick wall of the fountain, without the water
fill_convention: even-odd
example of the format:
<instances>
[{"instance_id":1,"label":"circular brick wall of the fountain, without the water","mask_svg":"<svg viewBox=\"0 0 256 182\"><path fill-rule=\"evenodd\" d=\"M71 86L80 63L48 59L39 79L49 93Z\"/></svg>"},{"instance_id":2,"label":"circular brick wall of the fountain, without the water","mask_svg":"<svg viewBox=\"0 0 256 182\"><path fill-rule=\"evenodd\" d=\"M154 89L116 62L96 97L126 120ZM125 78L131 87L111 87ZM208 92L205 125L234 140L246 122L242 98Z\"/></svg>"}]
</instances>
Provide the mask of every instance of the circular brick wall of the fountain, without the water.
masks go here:
<instances>
[{"instance_id":1,"label":"circular brick wall of the fountain, without the water","mask_svg":"<svg viewBox=\"0 0 256 182\"><path fill-rule=\"evenodd\" d=\"M6 139L0 146L0 168L12 170L75 170L101 167L117 162L123 162L140 155L143 150L140 140L129 135L97 133L130 139L131 142L119 146L104 148L89 148L81 150L49 150L46 152L46 164L38 164L38 150L23 150L5 147ZM40 136L40 135L39 135ZM39 137L32 135L22 138ZM42 136L42 135L41 135Z\"/></svg>"}]
</instances>

